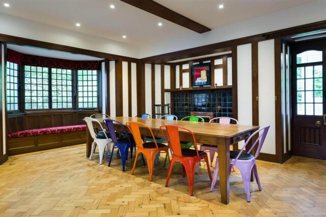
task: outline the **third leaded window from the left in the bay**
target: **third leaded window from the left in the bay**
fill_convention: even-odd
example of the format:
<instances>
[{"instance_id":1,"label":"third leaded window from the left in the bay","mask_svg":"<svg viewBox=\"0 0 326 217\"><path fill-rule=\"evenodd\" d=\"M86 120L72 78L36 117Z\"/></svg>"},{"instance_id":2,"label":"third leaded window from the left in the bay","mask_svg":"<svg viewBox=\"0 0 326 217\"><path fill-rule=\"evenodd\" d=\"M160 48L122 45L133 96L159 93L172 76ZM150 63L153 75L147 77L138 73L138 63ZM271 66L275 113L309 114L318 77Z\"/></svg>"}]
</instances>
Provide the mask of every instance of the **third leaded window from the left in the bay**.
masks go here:
<instances>
[{"instance_id":1,"label":"third leaded window from the left in the bay","mask_svg":"<svg viewBox=\"0 0 326 217\"><path fill-rule=\"evenodd\" d=\"M67 76L71 74L68 69L51 69L52 108L72 108L72 98L67 101L66 97L68 92L72 96L72 76ZM62 102L69 102L69 107Z\"/></svg>"}]
</instances>

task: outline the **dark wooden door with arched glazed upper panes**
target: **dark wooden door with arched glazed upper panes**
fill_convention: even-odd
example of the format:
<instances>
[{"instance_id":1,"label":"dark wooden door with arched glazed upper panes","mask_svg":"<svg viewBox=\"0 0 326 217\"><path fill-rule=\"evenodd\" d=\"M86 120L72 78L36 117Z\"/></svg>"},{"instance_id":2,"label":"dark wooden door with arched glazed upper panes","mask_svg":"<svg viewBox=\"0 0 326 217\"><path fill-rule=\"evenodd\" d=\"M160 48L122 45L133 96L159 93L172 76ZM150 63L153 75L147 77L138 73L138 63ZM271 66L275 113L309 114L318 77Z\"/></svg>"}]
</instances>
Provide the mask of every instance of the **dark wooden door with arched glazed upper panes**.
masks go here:
<instances>
[{"instance_id":1,"label":"dark wooden door with arched glazed upper panes","mask_svg":"<svg viewBox=\"0 0 326 217\"><path fill-rule=\"evenodd\" d=\"M326 40L292 48L293 154L326 159Z\"/></svg>"}]
</instances>

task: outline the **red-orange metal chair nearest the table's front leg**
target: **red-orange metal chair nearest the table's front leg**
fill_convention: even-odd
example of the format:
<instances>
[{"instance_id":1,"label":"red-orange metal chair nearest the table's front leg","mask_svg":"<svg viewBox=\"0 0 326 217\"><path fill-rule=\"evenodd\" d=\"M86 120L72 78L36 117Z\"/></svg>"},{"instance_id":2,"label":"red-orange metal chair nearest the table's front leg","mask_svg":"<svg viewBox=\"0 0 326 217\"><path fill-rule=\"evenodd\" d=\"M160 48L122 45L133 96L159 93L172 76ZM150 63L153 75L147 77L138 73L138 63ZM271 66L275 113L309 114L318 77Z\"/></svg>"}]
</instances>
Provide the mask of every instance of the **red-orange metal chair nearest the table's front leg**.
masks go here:
<instances>
[{"instance_id":1,"label":"red-orange metal chair nearest the table's front leg","mask_svg":"<svg viewBox=\"0 0 326 217\"><path fill-rule=\"evenodd\" d=\"M165 128L166 133L164 132L164 128ZM183 176L184 176L184 172L186 172L186 174L187 174L188 184L189 184L189 188L190 188L190 195L193 196L194 195L194 191L193 191L194 176L195 176L195 168L196 168L197 163L199 163L200 161L206 162L209 179L210 179L210 182L212 182L212 175L210 173L207 153L197 149L195 135L192 131L190 131L186 128L174 126L174 125L164 125L164 126L161 126L159 129L162 132L162 134L164 135L166 141L169 142L169 146L173 151L173 156L172 156L172 160L170 163L170 169L169 169L167 181L165 183L165 187L168 187L169 180L170 180L171 173L172 173L173 164L176 162L180 162L182 164ZM179 129L182 129L184 131L188 131L189 133L191 133L191 135L193 136L193 139L194 139L195 149L181 148ZM167 136L166 136L166 134L167 134Z\"/></svg>"}]
</instances>

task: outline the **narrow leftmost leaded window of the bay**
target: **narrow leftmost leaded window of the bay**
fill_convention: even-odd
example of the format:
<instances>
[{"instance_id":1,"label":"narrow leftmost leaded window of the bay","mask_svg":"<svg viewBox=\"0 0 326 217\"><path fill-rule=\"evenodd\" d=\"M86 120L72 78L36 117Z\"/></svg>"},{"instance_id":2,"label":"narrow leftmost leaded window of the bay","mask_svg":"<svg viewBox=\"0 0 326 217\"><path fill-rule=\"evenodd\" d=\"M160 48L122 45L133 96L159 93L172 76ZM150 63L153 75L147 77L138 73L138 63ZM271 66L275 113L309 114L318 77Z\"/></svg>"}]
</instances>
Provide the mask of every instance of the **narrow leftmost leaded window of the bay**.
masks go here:
<instances>
[{"instance_id":1,"label":"narrow leftmost leaded window of the bay","mask_svg":"<svg viewBox=\"0 0 326 217\"><path fill-rule=\"evenodd\" d=\"M18 110L18 65L7 61L7 110Z\"/></svg>"}]
</instances>

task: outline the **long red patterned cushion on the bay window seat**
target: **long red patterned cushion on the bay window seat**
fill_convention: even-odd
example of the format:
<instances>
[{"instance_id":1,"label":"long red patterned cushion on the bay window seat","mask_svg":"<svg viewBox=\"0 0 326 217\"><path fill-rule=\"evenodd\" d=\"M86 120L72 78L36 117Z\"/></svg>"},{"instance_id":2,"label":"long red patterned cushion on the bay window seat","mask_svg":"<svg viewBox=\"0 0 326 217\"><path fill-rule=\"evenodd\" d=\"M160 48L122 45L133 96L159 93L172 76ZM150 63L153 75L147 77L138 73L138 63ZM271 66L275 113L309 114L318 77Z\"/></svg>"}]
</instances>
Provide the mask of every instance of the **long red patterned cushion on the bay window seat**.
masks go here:
<instances>
[{"instance_id":1,"label":"long red patterned cushion on the bay window seat","mask_svg":"<svg viewBox=\"0 0 326 217\"><path fill-rule=\"evenodd\" d=\"M76 132L76 131L84 131L84 130L86 130L86 125L33 129L33 130L25 130L25 131L19 131L16 133L8 134L8 139L22 138L28 136L41 136L41 135L56 134L56 133L68 133L68 132Z\"/></svg>"}]
</instances>

